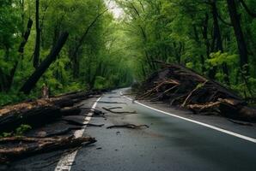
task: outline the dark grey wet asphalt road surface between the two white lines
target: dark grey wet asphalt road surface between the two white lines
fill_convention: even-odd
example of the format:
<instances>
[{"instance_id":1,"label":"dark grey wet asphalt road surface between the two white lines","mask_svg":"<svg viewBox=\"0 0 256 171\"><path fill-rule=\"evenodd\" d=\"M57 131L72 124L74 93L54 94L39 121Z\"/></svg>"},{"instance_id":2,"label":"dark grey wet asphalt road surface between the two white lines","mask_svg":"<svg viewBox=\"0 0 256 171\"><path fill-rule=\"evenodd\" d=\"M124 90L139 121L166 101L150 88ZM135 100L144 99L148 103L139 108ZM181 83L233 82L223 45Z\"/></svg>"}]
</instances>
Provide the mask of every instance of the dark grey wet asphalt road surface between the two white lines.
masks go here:
<instances>
[{"instance_id":1,"label":"dark grey wet asphalt road surface between the two white lines","mask_svg":"<svg viewBox=\"0 0 256 171\"><path fill-rule=\"evenodd\" d=\"M115 111L137 114L107 112L106 119L93 117L90 123L105 126L86 128L85 134L98 141L77 151L72 171L256 170L256 144L246 139L145 108L121 97L119 91L105 94L96 109L102 107L122 107ZM149 128L107 129L127 123Z\"/></svg>"}]
</instances>

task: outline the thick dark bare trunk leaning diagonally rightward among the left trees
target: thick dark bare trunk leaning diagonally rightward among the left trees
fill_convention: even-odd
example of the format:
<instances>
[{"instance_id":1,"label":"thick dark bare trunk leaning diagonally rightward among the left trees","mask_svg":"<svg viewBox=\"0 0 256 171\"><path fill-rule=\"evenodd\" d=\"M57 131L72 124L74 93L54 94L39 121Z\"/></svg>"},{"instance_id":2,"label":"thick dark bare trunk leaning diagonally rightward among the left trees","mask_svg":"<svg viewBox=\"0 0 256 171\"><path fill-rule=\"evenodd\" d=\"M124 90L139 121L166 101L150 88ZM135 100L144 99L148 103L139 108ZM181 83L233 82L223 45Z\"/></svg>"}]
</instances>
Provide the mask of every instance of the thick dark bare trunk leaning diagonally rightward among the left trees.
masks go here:
<instances>
[{"instance_id":1,"label":"thick dark bare trunk leaning diagonally rightward among the left trees","mask_svg":"<svg viewBox=\"0 0 256 171\"><path fill-rule=\"evenodd\" d=\"M46 59L40 64L39 68L37 68L34 71L34 74L30 76L30 78L26 81L26 83L21 87L22 92L25 94L29 94L30 91L34 88L37 81L40 80L40 77L42 74L46 72L46 69L50 67L52 62L54 62L58 56L58 53L63 48L67 38L69 36L68 32L62 33L59 38L57 44L55 44L54 47L52 47L52 50L49 54L49 56L46 57Z\"/></svg>"}]
</instances>

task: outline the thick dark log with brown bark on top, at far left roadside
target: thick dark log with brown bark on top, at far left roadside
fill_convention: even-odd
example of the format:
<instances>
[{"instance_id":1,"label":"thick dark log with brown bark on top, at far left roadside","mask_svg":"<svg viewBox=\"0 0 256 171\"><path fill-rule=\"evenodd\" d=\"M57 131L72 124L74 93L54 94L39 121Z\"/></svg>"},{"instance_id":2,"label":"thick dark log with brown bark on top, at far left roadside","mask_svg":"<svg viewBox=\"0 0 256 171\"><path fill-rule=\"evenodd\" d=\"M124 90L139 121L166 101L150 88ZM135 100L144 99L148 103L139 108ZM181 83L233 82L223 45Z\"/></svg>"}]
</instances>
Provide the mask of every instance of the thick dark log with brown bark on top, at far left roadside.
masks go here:
<instances>
[{"instance_id":1,"label":"thick dark log with brown bark on top, at far left roadside","mask_svg":"<svg viewBox=\"0 0 256 171\"><path fill-rule=\"evenodd\" d=\"M40 127L59 117L60 108L45 100L7 106L0 109L0 133L12 131L21 124Z\"/></svg>"}]
</instances>

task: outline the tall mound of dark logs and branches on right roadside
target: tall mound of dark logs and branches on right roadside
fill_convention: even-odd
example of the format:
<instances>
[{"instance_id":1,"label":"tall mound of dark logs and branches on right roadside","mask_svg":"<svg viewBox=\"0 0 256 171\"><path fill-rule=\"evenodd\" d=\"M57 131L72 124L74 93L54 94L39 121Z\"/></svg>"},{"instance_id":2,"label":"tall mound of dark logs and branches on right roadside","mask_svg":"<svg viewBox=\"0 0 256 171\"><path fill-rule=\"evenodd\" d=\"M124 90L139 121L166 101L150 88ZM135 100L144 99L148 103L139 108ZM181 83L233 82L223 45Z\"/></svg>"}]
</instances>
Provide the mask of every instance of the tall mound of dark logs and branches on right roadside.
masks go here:
<instances>
[{"instance_id":1,"label":"tall mound of dark logs and branches on right roadside","mask_svg":"<svg viewBox=\"0 0 256 171\"><path fill-rule=\"evenodd\" d=\"M178 64L160 63L164 68L143 82L136 99L164 101L191 109L194 114L256 121L256 109L248 107L234 91Z\"/></svg>"}]
</instances>

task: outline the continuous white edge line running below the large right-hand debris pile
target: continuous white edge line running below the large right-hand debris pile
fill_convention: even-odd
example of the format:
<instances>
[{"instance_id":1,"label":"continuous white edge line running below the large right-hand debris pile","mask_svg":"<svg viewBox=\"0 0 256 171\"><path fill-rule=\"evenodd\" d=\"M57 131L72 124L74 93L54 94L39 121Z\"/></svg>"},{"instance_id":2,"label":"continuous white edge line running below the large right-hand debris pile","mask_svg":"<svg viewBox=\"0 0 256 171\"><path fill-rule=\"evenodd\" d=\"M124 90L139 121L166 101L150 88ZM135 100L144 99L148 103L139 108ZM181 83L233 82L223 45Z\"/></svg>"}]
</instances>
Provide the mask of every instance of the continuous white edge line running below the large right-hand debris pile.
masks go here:
<instances>
[{"instance_id":1,"label":"continuous white edge line running below the large right-hand debris pile","mask_svg":"<svg viewBox=\"0 0 256 171\"><path fill-rule=\"evenodd\" d=\"M241 135L241 134L239 134L239 133L234 133L234 132L228 131L228 130L226 130L226 129L222 129L222 128L219 128L219 127L214 127L214 126L211 126L211 125L209 125L209 124L206 124L206 123L203 123L203 122L200 122L200 121L194 121L194 120L188 119L188 118L186 118L186 117L182 117L182 116L180 116L180 115L170 114L170 113L165 112L165 111L162 111L162 110L160 110L160 109L155 109L155 108L149 107L149 106L147 106L147 105L145 105L145 104L143 104L143 103L139 103L139 102L137 102L137 101L134 101L134 100L131 99L130 97L124 96L124 94L122 93L122 91L120 91L120 95L123 96L123 97L125 97L125 98L127 98L127 99L129 99L129 100L131 100L133 103L137 103L137 104L139 104L139 105L141 105L141 106L143 106L143 107L146 107L146 108L148 108L148 109L155 110L155 111L160 112L160 113L162 113L162 114L171 115L171 116L174 116L174 117L176 117L176 118L180 118L181 120L190 121L190 122L192 122L192 123L196 123L196 124L201 125L201 126L204 126L204 127L209 127L209 128L214 129L214 130L216 130L216 131L219 131L219 132L222 132L222 133L226 133L226 134L235 136L235 137L237 137L237 138L245 139L245 140L247 140L247 141L256 143L256 139L247 137L247 136L245 136L245 135Z\"/></svg>"}]
</instances>

